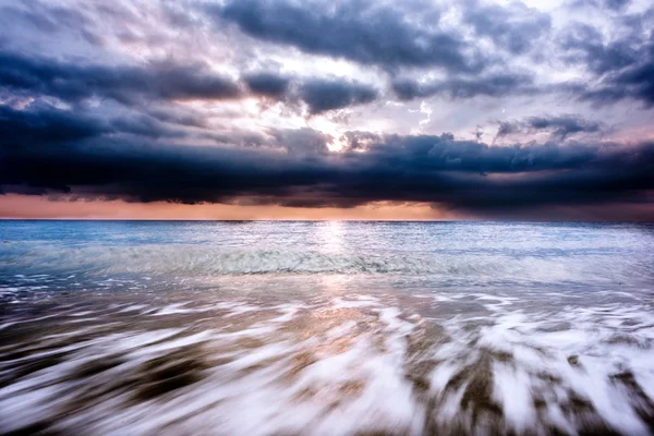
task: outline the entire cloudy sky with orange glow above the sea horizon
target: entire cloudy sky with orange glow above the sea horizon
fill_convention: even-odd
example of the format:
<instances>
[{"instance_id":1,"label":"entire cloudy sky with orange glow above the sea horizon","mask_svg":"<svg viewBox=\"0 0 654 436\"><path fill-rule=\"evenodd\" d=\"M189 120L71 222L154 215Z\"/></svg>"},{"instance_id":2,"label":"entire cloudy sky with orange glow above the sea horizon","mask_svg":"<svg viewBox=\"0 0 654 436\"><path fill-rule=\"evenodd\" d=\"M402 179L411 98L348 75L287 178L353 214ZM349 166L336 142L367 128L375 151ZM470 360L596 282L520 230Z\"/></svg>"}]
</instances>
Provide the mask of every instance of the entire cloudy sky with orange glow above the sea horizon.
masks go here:
<instances>
[{"instance_id":1,"label":"entire cloudy sky with orange glow above the sea horizon","mask_svg":"<svg viewBox=\"0 0 654 436\"><path fill-rule=\"evenodd\" d=\"M0 217L654 220L654 5L0 0Z\"/></svg>"}]
</instances>

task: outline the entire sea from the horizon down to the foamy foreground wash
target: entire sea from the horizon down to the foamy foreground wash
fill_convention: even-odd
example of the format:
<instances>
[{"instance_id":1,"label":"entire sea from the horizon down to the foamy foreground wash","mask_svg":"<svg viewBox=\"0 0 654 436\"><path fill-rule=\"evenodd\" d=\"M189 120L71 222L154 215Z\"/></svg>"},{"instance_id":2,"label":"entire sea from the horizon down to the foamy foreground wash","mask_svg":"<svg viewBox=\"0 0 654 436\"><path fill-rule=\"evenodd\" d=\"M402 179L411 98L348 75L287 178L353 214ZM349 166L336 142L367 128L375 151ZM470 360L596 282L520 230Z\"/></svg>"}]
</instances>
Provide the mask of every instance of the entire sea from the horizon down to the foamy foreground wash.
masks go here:
<instances>
[{"instance_id":1,"label":"entire sea from the horizon down to the foamy foreground wash","mask_svg":"<svg viewBox=\"0 0 654 436\"><path fill-rule=\"evenodd\" d=\"M654 225L0 221L0 434L654 432Z\"/></svg>"}]
</instances>

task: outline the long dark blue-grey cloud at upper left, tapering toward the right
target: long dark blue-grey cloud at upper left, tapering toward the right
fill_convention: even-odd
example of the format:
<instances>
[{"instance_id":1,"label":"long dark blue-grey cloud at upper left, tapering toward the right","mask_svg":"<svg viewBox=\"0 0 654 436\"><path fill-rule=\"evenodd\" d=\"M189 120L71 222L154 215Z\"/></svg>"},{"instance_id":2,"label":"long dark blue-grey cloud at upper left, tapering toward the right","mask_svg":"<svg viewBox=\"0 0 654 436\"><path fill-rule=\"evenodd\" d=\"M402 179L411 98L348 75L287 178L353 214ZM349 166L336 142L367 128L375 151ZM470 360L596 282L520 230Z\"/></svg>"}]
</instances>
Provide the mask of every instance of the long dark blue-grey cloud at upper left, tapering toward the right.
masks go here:
<instances>
[{"instance_id":1,"label":"long dark blue-grey cloud at upper left, tapering toward the right","mask_svg":"<svg viewBox=\"0 0 654 436\"><path fill-rule=\"evenodd\" d=\"M0 87L74 101L88 97L120 102L148 99L234 98L241 94L229 77L202 65L150 63L144 66L76 64L0 51Z\"/></svg>"}]
</instances>

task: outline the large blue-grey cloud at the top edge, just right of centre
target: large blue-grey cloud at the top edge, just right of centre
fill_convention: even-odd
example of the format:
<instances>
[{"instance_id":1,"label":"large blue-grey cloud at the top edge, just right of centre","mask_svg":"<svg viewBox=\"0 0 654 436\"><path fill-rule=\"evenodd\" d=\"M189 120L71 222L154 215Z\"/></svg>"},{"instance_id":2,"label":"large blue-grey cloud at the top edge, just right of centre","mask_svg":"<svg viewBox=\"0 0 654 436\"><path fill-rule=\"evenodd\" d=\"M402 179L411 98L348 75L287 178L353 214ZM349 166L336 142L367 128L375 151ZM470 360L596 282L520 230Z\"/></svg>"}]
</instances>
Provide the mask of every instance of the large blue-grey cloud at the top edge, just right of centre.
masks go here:
<instances>
[{"instance_id":1,"label":"large blue-grey cloud at the top edge, just right of centre","mask_svg":"<svg viewBox=\"0 0 654 436\"><path fill-rule=\"evenodd\" d=\"M452 72L474 72L484 65L459 35L434 28L439 11L426 2L408 2L424 21L416 25L405 9L348 1L338 4L288 0L238 0L211 8L217 17L235 23L245 34L316 55L344 58L386 69L440 66ZM427 25L427 24L431 24Z\"/></svg>"}]
</instances>

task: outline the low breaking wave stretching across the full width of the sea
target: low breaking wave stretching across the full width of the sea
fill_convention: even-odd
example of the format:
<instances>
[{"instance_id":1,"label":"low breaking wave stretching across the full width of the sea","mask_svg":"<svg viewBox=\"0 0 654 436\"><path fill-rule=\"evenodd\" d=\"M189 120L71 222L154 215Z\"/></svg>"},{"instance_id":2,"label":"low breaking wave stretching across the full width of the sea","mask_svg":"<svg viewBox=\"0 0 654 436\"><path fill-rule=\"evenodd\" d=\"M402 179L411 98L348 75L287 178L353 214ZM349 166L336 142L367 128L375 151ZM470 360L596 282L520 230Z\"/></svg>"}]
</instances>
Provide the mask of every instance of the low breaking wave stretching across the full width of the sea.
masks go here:
<instances>
[{"instance_id":1,"label":"low breaking wave stretching across the full width of the sea","mask_svg":"<svg viewBox=\"0 0 654 436\"><path fill-rule=\"evenodd\" d=\"M652 278L651 265L615 256L514 256L497 253L402 251L325 252L203 245L78 246L5 244L0 276L166 275L408 275L465 280L541 282L638 282Z\"/></svg>"}]
</instances>

